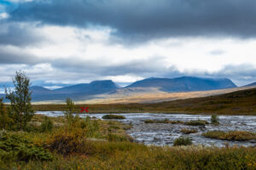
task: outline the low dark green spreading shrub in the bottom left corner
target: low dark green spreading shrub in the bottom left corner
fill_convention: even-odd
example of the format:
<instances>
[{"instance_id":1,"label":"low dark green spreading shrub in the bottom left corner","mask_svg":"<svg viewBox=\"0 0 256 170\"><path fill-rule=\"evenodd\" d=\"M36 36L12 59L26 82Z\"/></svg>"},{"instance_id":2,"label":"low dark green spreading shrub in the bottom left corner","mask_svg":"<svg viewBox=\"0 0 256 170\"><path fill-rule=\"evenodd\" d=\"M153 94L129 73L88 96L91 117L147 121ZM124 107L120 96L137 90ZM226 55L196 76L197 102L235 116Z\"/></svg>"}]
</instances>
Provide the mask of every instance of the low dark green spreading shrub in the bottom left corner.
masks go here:
<instances>
[{"instance_id":1,"label":"low dark green spreading shrub in the bottom left corner","mask_svg":"<svg viewBox=\"0 0 256 170\"><path fill-rule=\"evenodd\" d=\"M0 134L0 158L3 161L50 161L51 154L41 146L32 144L20 133Z\"/></svg>"}]
</instances>

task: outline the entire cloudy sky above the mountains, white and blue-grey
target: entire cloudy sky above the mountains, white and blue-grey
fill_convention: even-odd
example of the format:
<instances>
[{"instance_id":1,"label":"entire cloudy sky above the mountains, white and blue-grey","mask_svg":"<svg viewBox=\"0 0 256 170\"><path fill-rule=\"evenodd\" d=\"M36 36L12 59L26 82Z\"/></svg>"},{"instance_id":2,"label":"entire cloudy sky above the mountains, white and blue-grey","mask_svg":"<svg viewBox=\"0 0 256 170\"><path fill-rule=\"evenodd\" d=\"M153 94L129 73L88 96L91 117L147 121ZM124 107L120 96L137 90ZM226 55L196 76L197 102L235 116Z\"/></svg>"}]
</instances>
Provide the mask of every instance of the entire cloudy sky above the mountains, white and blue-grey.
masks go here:
<instances>
[{"instance_id":1,"label":"entire cloudy sky above the mountains, white and blue-grey","mask_svg":"<svg viewBox=\"0 0 256 170\"><path fill-rule=\"evenodd\" d=\"M256 82L255 0L0 0L0 85L147 77ZM0 90L1 91L1 90Z\"/></svg>"}]
</instances>

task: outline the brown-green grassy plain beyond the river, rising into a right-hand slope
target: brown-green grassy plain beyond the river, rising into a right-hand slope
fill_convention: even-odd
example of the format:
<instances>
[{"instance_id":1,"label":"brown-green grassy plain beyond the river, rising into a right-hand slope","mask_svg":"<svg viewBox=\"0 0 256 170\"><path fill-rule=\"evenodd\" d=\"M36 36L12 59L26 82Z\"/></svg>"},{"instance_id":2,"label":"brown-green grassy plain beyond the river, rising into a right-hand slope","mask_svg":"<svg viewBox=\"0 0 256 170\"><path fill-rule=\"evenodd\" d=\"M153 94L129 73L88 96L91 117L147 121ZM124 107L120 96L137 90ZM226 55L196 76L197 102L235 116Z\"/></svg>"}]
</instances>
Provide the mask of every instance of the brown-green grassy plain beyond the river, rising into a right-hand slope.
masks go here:
<instances>
[{"instance_id":1,"label":"brown-green grassy plain beyond the river, rising into a right-hand slope","mask_svg":"<svg viewBox=\"0 0 256 170\"><path fill-rule=\"evenodd\" d=\"M86 105L86 104L84 104ZM75 105L75 111L80 107ZM180 99L154 104L111 104L86 105L90 113L130 113L130 112L182 112L189 114L217 115L256 115L256 88L241 90L230 94ZM64 111L65 105L33 105L36 111Z\"/></svg>"}]
</instances>

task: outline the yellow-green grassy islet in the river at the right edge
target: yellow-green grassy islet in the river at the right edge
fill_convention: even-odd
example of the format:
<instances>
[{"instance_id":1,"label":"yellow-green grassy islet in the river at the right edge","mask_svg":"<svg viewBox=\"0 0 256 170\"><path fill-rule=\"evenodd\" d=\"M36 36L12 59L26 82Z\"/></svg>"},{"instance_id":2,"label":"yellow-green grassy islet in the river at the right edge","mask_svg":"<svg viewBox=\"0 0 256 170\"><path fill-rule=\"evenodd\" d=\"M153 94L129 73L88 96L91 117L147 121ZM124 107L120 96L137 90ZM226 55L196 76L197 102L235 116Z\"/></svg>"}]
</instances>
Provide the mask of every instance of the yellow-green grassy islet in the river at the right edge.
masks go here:
<instances>
[{"instance_id":1,"label":"yellow-green grassy islet in the river at the right edge","mask_svg":"<svg viewBox=\"0 0 256 170\"><path fill-rule=\"evenodd\" d=\"M202 134L206 138L211 139L222 139L222 140L234 140L234 141L247 141L256 140L256 133L251 133L247 131L208 131Z\"/></svg>"}]
</instances>

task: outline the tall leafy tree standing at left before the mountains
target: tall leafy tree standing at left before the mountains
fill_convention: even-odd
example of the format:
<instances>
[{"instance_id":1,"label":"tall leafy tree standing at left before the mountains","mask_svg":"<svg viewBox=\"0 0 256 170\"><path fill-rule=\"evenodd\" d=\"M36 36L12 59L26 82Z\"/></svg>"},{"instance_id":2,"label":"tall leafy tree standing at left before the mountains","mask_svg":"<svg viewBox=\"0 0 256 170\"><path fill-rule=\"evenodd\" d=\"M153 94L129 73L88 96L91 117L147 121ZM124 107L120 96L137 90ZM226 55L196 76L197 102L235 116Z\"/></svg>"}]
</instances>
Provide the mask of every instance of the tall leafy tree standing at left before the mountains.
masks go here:
<instances>
[{"instance_id":1,"label":"tall leafy tree standing at left before the mountains","mask_svg":"<svg viewBox=\"0 0 256 170\"><path fill-rule=\"evenodd\" d=\"M17 129L25 129L26 123L32 119L34 111L31 105L30 80L24 72L16 71L13 79L15 90L5 89L6 99L10 101L10 116Z\"/></svg>"}]
</instances>

